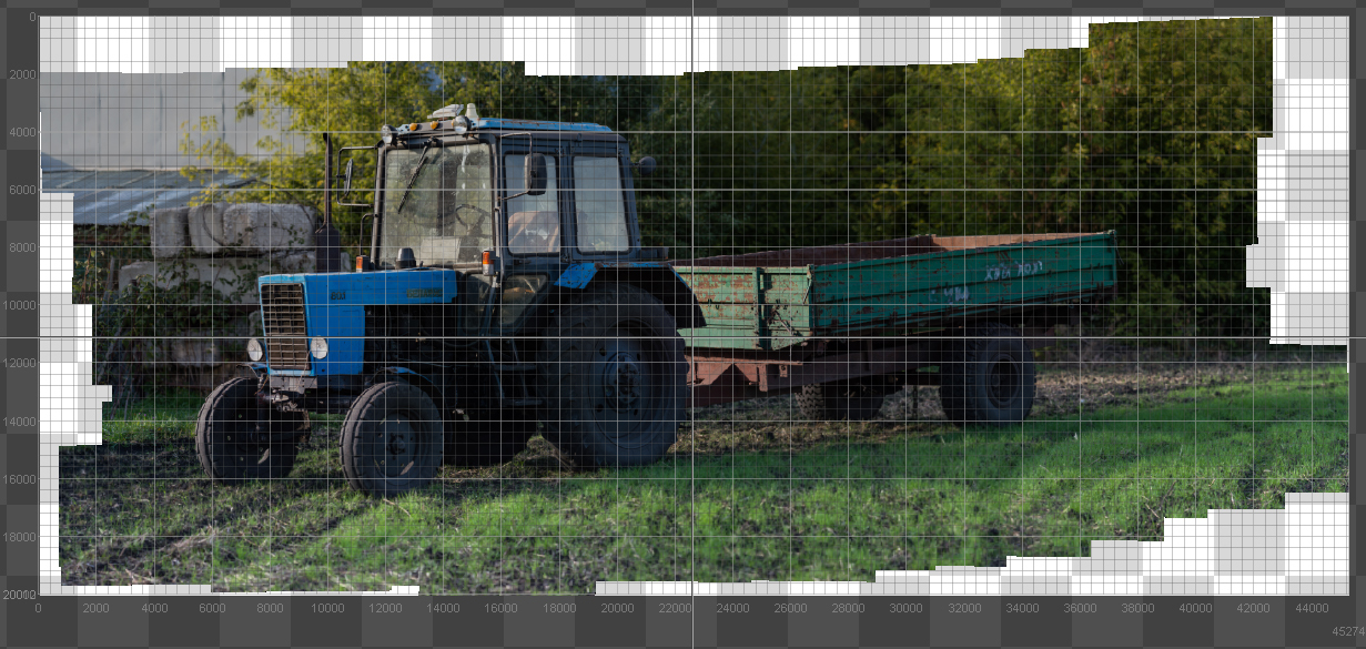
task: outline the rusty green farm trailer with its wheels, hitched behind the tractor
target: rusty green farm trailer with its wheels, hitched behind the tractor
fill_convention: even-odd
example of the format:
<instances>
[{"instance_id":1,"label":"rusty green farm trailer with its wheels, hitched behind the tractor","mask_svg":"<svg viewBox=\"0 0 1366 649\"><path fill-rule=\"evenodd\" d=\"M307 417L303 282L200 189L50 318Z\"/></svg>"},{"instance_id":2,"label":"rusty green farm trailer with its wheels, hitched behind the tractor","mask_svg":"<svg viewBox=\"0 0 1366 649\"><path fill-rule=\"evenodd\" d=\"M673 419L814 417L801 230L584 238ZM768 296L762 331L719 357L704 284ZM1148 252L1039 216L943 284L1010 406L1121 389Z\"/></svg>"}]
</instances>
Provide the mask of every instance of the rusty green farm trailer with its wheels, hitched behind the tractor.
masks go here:
<instances>
[{"instance_id":1,"label":"rusty green farm trailer with its wheels, hitched behind the tractor","mask_svg":"<svg viewBox=\"0 0 1366 649\"><path fill-rule=\"evenodd\" d=\"M1115 232L922 235L675 261L706 325L682 329L693 406L798 392L866 419L904 385L949 418L1029 415L1033 350L1116 290ZM929 372L938 368L938 372Z\"/></svg>"}]
</instances>

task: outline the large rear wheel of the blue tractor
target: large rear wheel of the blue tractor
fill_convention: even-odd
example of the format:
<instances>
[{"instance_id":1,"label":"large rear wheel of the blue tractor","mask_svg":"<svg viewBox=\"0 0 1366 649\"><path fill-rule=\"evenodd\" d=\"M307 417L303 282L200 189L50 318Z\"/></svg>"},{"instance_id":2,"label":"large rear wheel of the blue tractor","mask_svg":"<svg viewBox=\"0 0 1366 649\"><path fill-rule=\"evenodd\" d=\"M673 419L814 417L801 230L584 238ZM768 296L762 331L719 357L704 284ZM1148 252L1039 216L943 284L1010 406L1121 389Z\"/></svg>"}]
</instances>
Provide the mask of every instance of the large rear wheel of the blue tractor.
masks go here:
<instances>
[{"instance_id":1,"label":"large rear wheel of the blue tractor","mask_svg":"<svg viewBox=\"0 0 1366 649\"><path fill-rule=\"evenodd\" d=\"M590 288L556 314L537 362L545 439L572 465L663 458L686 415L687 362L673 317L632 284Z\"/></svg>"}]
</instances>

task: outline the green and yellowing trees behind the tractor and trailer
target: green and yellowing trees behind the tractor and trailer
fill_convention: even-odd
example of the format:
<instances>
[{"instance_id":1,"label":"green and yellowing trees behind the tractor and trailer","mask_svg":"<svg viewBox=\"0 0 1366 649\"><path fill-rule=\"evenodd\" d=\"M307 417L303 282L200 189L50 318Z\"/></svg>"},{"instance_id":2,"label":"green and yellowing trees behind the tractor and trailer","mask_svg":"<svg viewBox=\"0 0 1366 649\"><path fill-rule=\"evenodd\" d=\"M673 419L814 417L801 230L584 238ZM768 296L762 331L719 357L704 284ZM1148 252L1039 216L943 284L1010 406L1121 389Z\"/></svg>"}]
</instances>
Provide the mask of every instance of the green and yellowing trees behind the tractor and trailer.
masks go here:
<instances>
[{"instance_id":1,"label":"green and yellowing trees behind the tractor and trailer","mask_svg":"<svg viewBox=\"0 0 1366 649\"><path fill-rule=\"evenodd\" d=\"M205 201L321 209L325 131L369 145L380 124L470 101L484 116L597 122L660 161L637 180L641 228L675 258L1116 230L1126 272L1106 331L1265 331L1268 294L1246 287L1244 246L1257 240L1257 138L1272 127L1270 19L1093 25L1087 45L678 78L527 77L516 63L261 70L239 115L310 134L306 150L266 139L268 156L242 156L206 137L219 127L208 118L187 124L183 146L262 180ZM357 178L373 179L362 160ZM363 240L359 216L333 212L346 246Z\"/></svg>"}]
</instances>

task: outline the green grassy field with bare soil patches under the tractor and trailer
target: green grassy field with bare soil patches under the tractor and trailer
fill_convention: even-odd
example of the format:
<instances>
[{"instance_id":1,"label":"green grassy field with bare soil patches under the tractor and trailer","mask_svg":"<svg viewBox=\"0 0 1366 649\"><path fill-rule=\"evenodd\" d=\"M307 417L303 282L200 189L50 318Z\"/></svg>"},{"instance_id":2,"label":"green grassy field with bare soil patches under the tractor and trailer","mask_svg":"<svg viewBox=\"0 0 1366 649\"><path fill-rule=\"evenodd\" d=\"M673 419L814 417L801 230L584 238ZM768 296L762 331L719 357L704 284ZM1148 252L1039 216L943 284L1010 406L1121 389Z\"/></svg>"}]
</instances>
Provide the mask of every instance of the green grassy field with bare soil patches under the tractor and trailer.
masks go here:
<instances>
[{"instance_id":1,"label":"green grassy field with bare soil patches under the tractor and trailer","mask_svg":"<svg viewBox=\"0 0 1366 649\"><path fill-rule=\"evenodd\" d=\"M959 430L934 391L877 421L802 421L791 398L699 409L668 459L568 471L540 437L507 466L443 469L374 500L337 462L339 417L290 480L212 485L201 403L111 410L105 445L61 451L66 583L224 590L582 593L602 579L859 579L874 570L1085 556L1160 540L1162 518L1276 508L1347 488L1336 363L1044 368L1034 415Z\"/></svg>"}]
</instances>

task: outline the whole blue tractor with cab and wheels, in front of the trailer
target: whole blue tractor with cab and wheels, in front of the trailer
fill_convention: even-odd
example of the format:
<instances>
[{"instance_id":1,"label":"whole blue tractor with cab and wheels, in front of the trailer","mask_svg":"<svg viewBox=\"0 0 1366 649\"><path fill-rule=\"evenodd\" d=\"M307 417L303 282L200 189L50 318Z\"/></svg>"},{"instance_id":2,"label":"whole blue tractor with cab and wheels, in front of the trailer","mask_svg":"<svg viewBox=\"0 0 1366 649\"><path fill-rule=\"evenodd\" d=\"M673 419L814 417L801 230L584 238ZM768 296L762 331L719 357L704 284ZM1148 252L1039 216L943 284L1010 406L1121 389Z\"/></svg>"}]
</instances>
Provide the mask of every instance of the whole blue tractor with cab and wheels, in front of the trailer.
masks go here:
<instances>
[{"instance_id":1,"label":"whole blue tractor with cab and wheels, in front of the trailer","mask_svg":"<svg viewBox=\"0 0 1366 649\"><path fill-rule=\"evenodd\" d=\"M632 164L598 124L473 105L381 135L337 152L377 163L354 271L331 223L328 141L318 272L260 279L255 377L219 385L195 425L209 475L288 475L309 413L346 414L342 466L370 495L419 488L443 463L501 465L538 424L572 465L664 456L688 396L678 329L703 318L667 249L641 247L632 175L653 158ZM342 199L351 175L348 161Z\"/></svg>"}]
</instances>

